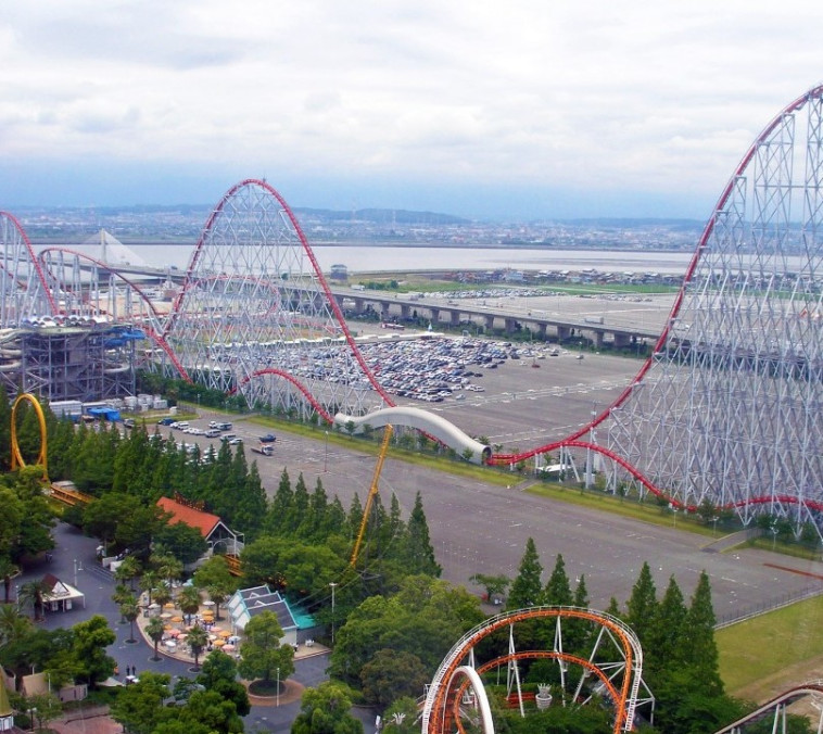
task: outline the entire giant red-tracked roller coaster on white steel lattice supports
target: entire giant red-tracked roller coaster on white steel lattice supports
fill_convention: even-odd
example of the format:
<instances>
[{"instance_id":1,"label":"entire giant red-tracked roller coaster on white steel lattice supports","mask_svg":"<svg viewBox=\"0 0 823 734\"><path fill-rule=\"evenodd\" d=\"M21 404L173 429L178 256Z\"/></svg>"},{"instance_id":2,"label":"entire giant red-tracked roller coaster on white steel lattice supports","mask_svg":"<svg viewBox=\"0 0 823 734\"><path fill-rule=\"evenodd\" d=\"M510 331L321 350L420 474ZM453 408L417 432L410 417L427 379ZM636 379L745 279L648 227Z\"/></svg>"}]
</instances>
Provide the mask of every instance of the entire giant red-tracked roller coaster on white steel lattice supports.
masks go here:
<instances>
[{"instance_id":1,"label":"entire giant red-tracked roller coaster on white steel lattice supports","mask_svg":"<svg viewBox=\"0 0 823 734\"><path fill-rule=\"evenodd\" d=\"M732 511L746 526L768 514L798 535L813 528L823 537L822 121L823 87L815 87L745 152L651 356L613 404L560 441L495 455L474 446L472 460L533 460L536 468L549 453L579 463L599 455L607 491L657 495L688 511ZM300 223L264 180L240 181L218 202L163 309L127 268L66 248L35 253L11 214L0 215L0 374L21 370L25 390L50 395L68 379L75 393L127 392L126 376L144 367L239 395L250 407L375 427L377 394L392 412L377 418L463 445L456 427L395 406ZM58 322L66 315L123 327L124 343L110 349L113 334L104 329L98 346L94 328L86 329L88 345L77 337L76 352L67 334L37 340L48 320L55 326L47 330L77 328ZM24 338L35 320L39 329ZM138 330L149 349L135 351L126 334ZM30 368L37 349L52 367ZM80 360L99 365L100 377L79 369L64 377L63 364Z\"/></svg>"}]
</instances>

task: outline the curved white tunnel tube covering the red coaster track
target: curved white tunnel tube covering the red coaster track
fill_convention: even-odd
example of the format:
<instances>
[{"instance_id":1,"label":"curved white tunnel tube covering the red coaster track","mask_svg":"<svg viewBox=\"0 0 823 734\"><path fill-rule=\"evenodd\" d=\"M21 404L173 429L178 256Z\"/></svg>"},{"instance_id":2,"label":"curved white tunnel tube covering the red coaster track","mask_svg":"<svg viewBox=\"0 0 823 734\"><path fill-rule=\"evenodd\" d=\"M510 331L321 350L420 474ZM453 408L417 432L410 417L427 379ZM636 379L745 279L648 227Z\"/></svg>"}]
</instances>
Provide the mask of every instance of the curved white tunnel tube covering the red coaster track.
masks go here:
<instances>
[{"instance_id":1,"label":"curved white tunnel tube covering the red coaster track","mask_svg":"<svg viewBox=\"0 0 823 734\"><path fill-rule=\"evenodd\" d=\"M468 458L473 464L483 464L492 457L492 450L470 435L464 433L457 426L441 416L413 407L381 408L365 416L347 416L338 413L334 425L343 430L354 427L354 433L362 433L364 426L383 428L384 426L407 426L428 433L457 454Z\"/></svg>"}]
</instances>

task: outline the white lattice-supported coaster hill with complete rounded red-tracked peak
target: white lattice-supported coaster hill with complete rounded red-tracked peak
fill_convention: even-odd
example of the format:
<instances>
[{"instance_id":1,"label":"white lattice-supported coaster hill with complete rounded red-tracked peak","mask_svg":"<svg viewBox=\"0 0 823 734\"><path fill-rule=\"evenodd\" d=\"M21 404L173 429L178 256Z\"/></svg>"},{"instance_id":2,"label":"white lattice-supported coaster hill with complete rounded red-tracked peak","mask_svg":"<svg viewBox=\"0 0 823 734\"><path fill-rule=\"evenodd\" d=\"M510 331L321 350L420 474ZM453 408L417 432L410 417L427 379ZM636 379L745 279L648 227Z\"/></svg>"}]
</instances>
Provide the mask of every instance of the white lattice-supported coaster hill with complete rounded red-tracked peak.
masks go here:
<instances>
[{"instance_id":1,"label":"white lattice-supported coaster hill with complete rounded red-tracked peak","mask_svg":"<svg viewBox=\"0 0 823 734\"><path fill-rule=\"evenodd\" d=\"M331 421L373 407L372 389L388 398L296 218L265 181L241 181L212 213L164 339L188 377L239 390L250 407Z\"/></svg>"}]
</instances>

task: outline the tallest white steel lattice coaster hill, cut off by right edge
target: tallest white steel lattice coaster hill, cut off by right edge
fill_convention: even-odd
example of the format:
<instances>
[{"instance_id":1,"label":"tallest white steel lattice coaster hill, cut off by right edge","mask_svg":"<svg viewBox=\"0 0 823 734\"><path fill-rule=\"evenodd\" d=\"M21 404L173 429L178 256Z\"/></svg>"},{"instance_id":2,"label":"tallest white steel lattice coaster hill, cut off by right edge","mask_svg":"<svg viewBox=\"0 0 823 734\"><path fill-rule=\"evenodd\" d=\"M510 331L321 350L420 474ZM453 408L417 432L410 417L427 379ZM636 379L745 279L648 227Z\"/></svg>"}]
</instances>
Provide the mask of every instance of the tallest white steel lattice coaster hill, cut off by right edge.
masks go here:
<instances>
[{"instance_id":1,"label":"tallest white steel lattice coaster hill, cut off by right edge","mask_svg":"<svg viewBox=\"0 0 823 734\"><path fill-rule=\"evenodd\" d=\"M818 87L744 156L655 355L600 417L608 451L676 505L735 508L746 523L768 511L821 532L822 185Z\"/></svg>"}]
</instances>

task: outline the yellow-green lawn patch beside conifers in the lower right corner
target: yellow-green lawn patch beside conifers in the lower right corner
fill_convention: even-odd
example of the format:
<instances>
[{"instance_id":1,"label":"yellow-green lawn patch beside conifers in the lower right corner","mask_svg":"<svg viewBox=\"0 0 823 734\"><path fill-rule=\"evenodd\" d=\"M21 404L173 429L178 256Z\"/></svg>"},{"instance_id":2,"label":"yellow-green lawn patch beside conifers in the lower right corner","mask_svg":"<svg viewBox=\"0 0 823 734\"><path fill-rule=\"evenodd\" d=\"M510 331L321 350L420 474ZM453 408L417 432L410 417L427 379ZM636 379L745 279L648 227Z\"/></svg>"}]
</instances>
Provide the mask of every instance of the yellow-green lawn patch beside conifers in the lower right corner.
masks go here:
<instances>
[{"instance_id":1,"label":"yellow-green lawn patch beside conifers in the lower right corner","mask_svg":"<svg viewBox=\"0 0 823 734\"><path fill-rule=\"evenodd\" d=\"M789 666L823 656L822 630L822 596L718 630L714 637L726 691L734 695ZM783 687L802 682L787 680Z\"/></svg>"}]
</instances>

